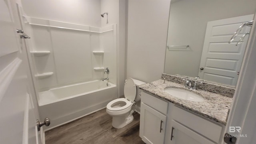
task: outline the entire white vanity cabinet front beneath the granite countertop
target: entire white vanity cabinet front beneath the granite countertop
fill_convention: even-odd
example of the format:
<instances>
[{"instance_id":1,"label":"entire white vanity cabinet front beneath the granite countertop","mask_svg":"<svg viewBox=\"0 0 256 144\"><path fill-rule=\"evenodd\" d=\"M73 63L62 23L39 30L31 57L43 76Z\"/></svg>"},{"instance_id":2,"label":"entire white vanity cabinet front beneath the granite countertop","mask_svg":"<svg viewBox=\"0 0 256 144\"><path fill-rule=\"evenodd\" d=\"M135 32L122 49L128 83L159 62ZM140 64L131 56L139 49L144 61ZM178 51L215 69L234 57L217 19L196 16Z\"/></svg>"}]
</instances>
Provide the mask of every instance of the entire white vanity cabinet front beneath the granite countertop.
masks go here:
<instances>
[{"instance_id":1,"label":"entire white vanity cabinet front beneath the granite countertop","mask_svg":"<svg viewBox=\"0 0 256 144\"><path fill-rule=\"evenodd\" d=\"M222 125L142 92L140 137L146 144L219 144L224 129Z\"/></svg>"}]
</instances>

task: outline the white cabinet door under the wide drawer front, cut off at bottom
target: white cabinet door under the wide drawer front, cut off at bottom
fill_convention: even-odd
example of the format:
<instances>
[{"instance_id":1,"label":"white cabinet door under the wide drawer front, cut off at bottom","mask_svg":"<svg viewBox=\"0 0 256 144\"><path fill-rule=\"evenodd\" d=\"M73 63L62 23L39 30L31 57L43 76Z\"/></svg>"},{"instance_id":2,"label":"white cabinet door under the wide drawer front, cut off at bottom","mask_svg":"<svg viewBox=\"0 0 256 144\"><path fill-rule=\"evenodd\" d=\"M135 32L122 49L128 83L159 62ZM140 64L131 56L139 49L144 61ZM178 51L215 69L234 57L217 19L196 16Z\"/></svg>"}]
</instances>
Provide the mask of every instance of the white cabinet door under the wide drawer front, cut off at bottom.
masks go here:
<instances>
[{"instance_id":1,"label":"white cabinet door under the wide drawer front, cut off at bottom","mask_svg":"<svg viewBox=\"0 0 256 144\"><path fill-rule=\"evenodd\" d=\"M216 144L186 126L172 120L170 144Z\"/></svg>"}]
</instances>

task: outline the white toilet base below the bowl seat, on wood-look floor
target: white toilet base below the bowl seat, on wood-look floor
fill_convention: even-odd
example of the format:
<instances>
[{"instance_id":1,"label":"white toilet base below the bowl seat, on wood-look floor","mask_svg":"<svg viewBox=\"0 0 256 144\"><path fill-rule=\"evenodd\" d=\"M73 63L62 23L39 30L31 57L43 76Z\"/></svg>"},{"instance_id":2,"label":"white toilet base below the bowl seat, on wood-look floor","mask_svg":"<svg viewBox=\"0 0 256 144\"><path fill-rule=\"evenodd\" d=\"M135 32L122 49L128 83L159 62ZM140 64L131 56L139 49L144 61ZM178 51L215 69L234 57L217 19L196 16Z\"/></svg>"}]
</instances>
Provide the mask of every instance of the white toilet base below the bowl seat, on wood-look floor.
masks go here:
<instances>
[{"instance_id":1,"label":"white toilet base below the bowl seat, on wood-look floor","mask_svg":"<svg viewBox=\"0 0 256 144\"><path fill-rule=\"evenodd\" d=\"M127 124L130 124L132 122L132 120L134 119L133 115L132 115L133 112L134 112L134 110L132 110L125 116L113 116L112 126L114 128L123 128Z\"/></svg>"}]
</instances>

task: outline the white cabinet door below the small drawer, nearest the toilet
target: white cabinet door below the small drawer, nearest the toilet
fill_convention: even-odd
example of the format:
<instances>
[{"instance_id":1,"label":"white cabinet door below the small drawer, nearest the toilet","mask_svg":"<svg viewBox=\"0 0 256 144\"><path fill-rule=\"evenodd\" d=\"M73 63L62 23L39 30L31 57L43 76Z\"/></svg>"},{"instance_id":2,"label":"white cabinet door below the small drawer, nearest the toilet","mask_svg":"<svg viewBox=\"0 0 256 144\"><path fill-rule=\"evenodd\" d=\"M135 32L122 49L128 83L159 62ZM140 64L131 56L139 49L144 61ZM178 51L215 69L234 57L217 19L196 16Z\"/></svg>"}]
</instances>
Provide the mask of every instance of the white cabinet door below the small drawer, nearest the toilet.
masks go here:
<instances>
[{"instance_id":1,"label":"white cabinet door below the small drawer, nearest the toilet","mask_svg":"<svg viewBox=\"0 0 256 144\"><path fill-rule=\"evenodd\" d=\"M164 144L166 116L141 103L140 137L146 144Z\"/></svg>"}]
</instances>

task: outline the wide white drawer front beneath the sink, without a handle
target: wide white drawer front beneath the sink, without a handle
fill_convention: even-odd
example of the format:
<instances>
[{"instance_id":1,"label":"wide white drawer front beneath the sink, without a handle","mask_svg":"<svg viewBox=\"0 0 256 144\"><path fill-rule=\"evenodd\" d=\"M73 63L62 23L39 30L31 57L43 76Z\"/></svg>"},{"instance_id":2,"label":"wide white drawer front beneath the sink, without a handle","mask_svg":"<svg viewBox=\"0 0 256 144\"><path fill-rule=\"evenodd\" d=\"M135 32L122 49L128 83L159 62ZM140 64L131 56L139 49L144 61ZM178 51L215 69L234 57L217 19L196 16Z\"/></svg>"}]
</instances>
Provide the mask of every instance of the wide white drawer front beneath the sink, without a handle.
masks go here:
<instances>
[{"instance_id":1,"label":"wide white drawer front beneath the sink, without a handle","mask_svg":"<svg viewBox=\"0 0 256 144\"><path fill-rule=\"evenodd\" d=\"M202 134L206 138L218 143L222 132L222 126L214 124L200 116L187 112L178 107L173 107L172 119L183 124L184 126L194 130L195 132Z\"/></svg>"}]
</instances>

